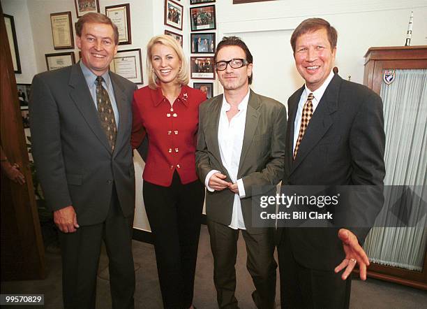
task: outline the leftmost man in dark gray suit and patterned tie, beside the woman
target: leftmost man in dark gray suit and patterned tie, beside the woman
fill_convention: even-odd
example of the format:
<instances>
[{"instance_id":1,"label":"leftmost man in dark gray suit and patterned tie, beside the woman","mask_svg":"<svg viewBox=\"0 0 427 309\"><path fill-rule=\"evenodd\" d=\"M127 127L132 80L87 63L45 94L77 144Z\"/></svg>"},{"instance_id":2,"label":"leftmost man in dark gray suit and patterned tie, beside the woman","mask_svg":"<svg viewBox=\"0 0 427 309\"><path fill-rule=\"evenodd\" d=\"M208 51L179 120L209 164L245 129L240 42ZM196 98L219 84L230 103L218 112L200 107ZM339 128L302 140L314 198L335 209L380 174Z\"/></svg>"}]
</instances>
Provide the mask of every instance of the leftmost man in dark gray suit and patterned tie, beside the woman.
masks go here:
<instances>
[{"instance_id":1,"label":"leftmost man in dark gray suit and patterned tie, beside the woman","mask_svg":"<svg viewBox=\"0 0 427 309\"><path fill-rule=\"evenodd\" d=\"M135 175L130 131L136 86L109 71L117 27L88 13L76 27L78 64L33 78L31 135L37 174L60 230L65 308L95 308L104 240L113 308L133 308Z\"/></svg>"}]
</instances>

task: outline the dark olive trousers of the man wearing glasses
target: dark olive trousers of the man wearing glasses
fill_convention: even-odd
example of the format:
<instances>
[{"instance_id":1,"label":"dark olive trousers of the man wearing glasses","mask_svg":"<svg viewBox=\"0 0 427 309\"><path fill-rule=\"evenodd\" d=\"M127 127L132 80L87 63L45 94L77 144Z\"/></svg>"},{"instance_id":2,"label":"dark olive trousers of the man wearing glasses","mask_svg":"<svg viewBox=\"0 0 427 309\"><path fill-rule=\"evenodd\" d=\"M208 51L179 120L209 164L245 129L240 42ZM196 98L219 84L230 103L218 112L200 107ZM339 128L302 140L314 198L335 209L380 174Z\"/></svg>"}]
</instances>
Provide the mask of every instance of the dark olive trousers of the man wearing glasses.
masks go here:
<instances>
[{"instance_id":1,"label":"dark olive trousers of the man wearing glasses","mask_svg":"<svg viewBox=\"0 0 427 309\"><path fill-rule=\"evenodd\" d=\"M234 296L236 291L237 240L239 230L207 220L213 254L213 282L216 287L218 307L239 308ZM257 308L274 308L276 296L276 268L274 260L274 229L259 233L241 230L246 243L246 267L252 276L255 291L252 294Z\"/></svg>"}]
</instances>

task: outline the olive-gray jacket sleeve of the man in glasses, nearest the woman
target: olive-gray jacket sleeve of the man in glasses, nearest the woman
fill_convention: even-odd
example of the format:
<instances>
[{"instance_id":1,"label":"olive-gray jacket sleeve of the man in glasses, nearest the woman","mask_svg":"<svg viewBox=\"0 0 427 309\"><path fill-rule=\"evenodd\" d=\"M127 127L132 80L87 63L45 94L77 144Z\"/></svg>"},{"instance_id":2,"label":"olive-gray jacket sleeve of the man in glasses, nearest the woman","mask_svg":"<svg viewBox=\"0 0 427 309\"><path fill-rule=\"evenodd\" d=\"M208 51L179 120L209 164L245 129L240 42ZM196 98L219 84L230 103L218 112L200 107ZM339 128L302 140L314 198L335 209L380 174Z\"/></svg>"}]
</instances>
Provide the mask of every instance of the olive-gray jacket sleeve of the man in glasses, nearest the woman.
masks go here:
<instances>
[{"instance_id":1,"label":"olive-gray jacket sleeve of the man in glasses, nearest the woman","mask_svg":"<svg viewBox=\"0 0 427 309\"><path fill-rule=\"evenodd\" d=\"M204 117L206 117L206 104L201 104L199 107L199 129L197 131L196 145L196 172L200 181L204 183L207 174L213 169L209 163L209 154L206 141L204 139Z\"/></svg>"}]
</instances>

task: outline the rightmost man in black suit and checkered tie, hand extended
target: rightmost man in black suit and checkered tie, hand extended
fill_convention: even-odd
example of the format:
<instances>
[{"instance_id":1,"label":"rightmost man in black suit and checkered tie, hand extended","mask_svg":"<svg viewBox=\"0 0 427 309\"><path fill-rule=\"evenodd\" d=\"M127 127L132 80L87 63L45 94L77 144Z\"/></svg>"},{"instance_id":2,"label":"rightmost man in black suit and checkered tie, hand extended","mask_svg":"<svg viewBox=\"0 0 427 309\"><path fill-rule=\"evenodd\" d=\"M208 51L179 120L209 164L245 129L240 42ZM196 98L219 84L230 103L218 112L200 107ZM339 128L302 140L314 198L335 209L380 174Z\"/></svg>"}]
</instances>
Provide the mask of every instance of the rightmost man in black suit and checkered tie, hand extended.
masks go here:
<instances>
[{"instance_id":1,"label":"rightmost man in black suit and checkered tie, hand extended","mask_svg":"<svg viewBox=\"0 0 427 309\"><path fill-rule=\"evenodd\" d=\"M382 186L382 101L367 87L334 75L336 41L334 27L320 18L304 20L292 34L295 63L306 84L288 100L283 190L290 185ZM366 208L351 205L366 215L363 224L354 225L373 224L380 203L371 202ZM349 275L356 264L366 279L369 261L361 245L368 231L280 228L282 308L348 308Z\"/></svg>"}]
</instances>

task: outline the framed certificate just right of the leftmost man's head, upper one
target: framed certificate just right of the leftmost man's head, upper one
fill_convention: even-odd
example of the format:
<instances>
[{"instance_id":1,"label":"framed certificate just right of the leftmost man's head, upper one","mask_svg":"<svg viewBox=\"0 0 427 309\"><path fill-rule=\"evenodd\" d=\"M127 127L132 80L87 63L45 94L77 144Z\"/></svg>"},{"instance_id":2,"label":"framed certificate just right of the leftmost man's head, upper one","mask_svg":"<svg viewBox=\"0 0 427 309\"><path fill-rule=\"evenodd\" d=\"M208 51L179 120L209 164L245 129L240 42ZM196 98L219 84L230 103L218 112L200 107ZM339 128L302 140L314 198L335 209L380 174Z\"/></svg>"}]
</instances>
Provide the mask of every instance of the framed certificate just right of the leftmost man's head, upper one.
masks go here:
<instances>
[{"instance_id":1,"label":"framed certificate just right of the leftmost man's head, upper one","mask_svg":"<svg viewBox=\"0 0 427 309\"><path fill-rule=\"evenodd\" d=\"M110 20L119 29L119 45L132 44L129 3L117 6L105 6L105 15L110 17Z\"/></svg>"}]
</instances>

